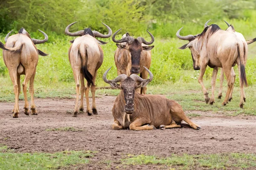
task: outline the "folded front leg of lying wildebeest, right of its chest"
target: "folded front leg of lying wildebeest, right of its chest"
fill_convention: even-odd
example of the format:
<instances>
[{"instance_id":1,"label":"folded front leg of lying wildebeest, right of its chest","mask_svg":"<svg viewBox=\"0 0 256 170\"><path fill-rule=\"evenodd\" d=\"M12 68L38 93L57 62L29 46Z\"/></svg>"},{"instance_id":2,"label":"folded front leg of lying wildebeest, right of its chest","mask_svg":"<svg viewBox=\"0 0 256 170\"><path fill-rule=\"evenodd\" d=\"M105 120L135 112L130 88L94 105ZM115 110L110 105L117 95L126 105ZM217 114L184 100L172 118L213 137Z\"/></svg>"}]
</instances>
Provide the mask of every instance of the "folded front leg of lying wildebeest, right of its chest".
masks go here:
<instances>
[{"instance_id":1,"label":"folded front leg of lying wildebeest, right of its chest","mask_svg":"<svg viewBox=\"0 0 256 170\"><path fill-rule=\"evenodd\" d=\"M152 130L156 129L154 125L145 125L149 123L150 120L137 118L130 124L130 130ZM144 125L144 126L142 126Z\"/></svg>"}]
</instances>

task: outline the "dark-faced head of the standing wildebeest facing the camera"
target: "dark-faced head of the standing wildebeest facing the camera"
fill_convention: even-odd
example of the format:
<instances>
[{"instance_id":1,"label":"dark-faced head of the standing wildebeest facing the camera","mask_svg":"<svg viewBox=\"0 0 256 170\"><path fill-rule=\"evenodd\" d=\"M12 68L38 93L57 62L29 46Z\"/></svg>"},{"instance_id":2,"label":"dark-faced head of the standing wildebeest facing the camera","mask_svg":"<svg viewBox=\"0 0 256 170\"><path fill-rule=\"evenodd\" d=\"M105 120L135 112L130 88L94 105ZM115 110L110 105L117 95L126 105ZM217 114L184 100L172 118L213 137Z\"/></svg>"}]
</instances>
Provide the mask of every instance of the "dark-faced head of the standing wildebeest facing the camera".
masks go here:
<instances>
[{"instance_id":1,"label":"dark-faced head of the standing wildebeest facing the camera","mask_svg":"<svg viewBox=\"0 0 256 170\"><path fill-rule=\"evenodd\" d=\"M151 50L152 48L154 48L154 45L142 46L141 44L143 43L145 45L151 45L154 42L154 36L149 31L147 31L151 37L151 41L147 42L143 37L137 37L134 39L128 33L126 33L125 37L122 37L121 40L116 40L115 39L116 34L121 29L122 28L120 28L113 34L112 40L113 40L113 42L116 42L116 43L126 42L125 45L116 44L116 46L120 49L125 49L130 52L130 54L131 54L131 73L138 74L138 73L140 73L140 54L141 54L141 52L143 50L148 51L148 50Z\"/></svg>"}]
</instances>

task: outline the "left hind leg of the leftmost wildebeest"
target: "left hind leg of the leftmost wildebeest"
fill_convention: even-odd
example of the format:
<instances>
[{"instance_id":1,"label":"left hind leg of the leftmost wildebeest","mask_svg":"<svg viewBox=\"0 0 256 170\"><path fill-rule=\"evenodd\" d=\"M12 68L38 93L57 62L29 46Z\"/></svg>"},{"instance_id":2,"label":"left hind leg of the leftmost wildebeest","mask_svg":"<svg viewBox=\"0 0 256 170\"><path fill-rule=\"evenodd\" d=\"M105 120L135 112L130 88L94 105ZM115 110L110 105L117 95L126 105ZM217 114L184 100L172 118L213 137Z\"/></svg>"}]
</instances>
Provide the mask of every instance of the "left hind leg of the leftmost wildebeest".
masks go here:
<instances>
[{"instance_id":1,"label":"left hind leg of the leftmost wildebeest","mask_svg":"<svg viewBox=\"0 0 256 170\"><path fill-rule=\"evenodd\" d=\"M11 68L11 69L8 69L9 70L9 75L10 75L10 78L12 80L12 84L13 84L13 91L14 91L14 94L15 94L15 105L14 105L14 109L12 111L13 115L12 117L13 118L18 118L18 114L19 114L19 89L18 89L18 83L20 82L17 82L17 68Z\"/></svg>"}]
</instances>

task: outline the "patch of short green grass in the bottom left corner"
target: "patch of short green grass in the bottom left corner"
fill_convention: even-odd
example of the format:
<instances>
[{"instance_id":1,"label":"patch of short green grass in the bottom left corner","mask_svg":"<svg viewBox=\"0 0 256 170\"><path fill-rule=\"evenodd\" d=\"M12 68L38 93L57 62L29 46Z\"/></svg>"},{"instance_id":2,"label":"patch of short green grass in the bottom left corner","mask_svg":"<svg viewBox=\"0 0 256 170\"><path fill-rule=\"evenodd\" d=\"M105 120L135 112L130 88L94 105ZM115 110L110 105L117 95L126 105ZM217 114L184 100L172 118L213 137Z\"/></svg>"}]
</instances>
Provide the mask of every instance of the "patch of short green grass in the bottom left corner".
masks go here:
<instances>
[{"instance_id":1,"label":"patch of short green grass in the bottom left corner","mask_svg":"<svg viewBox=\"0 0 256 170\"><path fill-rule=\"evenodd\" d=\"M0 146L0 170L47 170L89 163L92 151L57 153L16 153Z\"/></svg>"}]
</instances>

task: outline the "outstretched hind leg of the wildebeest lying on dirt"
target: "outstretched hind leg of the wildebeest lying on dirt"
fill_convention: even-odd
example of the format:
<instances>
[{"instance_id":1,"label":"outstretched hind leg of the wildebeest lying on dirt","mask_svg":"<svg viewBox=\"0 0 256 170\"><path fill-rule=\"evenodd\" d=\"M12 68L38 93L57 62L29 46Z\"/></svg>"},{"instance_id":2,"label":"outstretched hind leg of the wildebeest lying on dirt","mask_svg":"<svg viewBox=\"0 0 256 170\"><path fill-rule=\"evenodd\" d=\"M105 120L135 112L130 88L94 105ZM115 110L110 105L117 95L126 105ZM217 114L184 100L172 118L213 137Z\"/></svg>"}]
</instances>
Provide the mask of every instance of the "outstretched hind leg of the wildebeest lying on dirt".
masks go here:
<instances>
[{"instance_id":1,"label":"outstretched hind leg of the wildebeest lying on dirt","mask_svg":"<svg viewBox=\"0 0 256 170\"><path fill-rule=\"evenodd\" d=\"M180 122L180 120L184 120L187 124L189 124L190 127L199 130L201 129L201 126L195 124L194 122L192 122L184 113L184 111L182 110L181 106L175 102L175 101L171 101L171 116L172 118L178 118L177 121L174 119L175 122Z\"/></svg>"}]
</instances>

